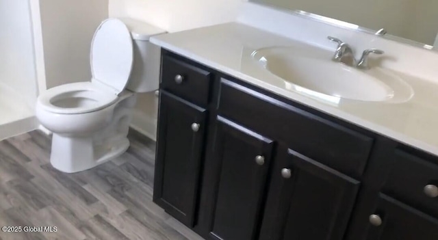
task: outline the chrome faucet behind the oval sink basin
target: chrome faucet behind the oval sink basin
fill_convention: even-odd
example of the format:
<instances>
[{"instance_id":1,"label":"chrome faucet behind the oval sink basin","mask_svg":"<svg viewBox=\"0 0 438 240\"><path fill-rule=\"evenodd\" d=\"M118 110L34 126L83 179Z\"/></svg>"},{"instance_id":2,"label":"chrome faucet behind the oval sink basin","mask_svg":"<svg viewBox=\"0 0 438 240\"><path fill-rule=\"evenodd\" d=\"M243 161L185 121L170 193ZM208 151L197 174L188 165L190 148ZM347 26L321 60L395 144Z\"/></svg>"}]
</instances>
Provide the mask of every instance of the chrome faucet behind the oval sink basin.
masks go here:
<instances>
[{"instance_id":1,"label":"chrome faucet behind the oval sink basin","mask_svg":"<svg viewBox=\"0 0 438 240\"><path fill-rule=\"evenodd\" d=\"M363 51L361 59L359 60L359 62L356 63L355 54L353 53L350 45L346 44L339 38L334 38L331 36L328 36L327 38L329 38L329 40L331 40L332 42L337 42L337 49L335 51L335 55L333 55L332 58L334 62L342 62L343 64L352 67L357 67L359 69L363 69L363 70L370 69L370 66L368 65L368 55L370 55L370 53L375 53L375 54L385 53L384 51L379 49L367 49Z\"/></svg>"}]
</instances>

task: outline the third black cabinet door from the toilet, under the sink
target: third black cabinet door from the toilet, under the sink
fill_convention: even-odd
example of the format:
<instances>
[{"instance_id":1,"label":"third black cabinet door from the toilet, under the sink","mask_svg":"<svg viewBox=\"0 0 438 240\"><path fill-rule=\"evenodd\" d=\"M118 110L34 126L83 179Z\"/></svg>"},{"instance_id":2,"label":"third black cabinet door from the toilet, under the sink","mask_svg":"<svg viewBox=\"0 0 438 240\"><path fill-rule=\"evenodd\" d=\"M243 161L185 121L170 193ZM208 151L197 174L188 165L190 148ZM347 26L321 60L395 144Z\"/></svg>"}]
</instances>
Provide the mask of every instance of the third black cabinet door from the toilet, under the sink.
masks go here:
<instances>
[{"instance_id":1,"label":"third black cabinet door from the toilet, under the sink","mask_svg":"<svg viewBox=\"0 0 438 240\"><path fill-rule=\"evenodd\" d=\"M341 240L359 182L280 147L261 227L261 240Z\"/></svg>"}]
</instances>

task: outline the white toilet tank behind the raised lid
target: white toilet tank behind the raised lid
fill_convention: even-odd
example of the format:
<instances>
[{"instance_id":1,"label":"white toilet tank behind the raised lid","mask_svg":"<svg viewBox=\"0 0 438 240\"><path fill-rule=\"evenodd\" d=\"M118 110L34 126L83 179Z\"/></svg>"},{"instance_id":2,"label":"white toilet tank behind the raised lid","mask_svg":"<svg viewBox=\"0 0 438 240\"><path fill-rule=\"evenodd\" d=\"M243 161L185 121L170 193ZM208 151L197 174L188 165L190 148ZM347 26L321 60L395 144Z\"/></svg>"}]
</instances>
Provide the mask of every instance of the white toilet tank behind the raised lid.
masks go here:
<instances>
[{"instance_id":1,"label":"white toilet tank behind the raised lid","mask_svg":"<svg viewBox=\"0 0 438 240\"><path fill-rule=\"evenodd\" d=\"M127 90L153 92L159 88L160 48L149 42L151 36L166 31L132 18L120 18L131 31L134 61Z\"/></svg>"}]
</instances>

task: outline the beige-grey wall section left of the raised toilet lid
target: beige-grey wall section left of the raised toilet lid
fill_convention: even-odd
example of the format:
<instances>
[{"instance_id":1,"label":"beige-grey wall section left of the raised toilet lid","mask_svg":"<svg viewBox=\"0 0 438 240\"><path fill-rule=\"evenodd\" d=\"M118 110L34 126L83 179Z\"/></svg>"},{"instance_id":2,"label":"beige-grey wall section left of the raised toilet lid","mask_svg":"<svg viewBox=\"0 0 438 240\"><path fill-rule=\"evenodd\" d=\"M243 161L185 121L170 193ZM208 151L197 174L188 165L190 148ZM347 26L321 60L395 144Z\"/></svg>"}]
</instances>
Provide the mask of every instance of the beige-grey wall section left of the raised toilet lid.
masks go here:
<instances>
[{"instance_id":1,"label":"beige-grey wall section left of the raised toilet lid","mask_svg":"<svg viewBox=\"0 0 438 240\"><path fill-rule=\"evenodd\" d=\"M108 1L39 0L39 3L47 88L90 81L91 40L96 27L108 16Z\"/></svg>"}]
</instances>

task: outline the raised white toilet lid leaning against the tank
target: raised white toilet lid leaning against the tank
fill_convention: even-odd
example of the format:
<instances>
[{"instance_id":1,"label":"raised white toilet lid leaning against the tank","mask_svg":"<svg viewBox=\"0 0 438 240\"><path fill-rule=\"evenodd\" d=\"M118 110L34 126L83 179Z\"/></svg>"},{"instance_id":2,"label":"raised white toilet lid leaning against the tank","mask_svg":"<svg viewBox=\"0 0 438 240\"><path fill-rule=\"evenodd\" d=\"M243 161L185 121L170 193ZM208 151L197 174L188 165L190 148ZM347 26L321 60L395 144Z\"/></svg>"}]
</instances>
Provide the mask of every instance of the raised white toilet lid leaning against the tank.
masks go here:
<instances>
[{"instance_id":1,"label":"raised white toilet lid leaning against the tank","mask_svg":"<svg viewBox=\"0 0 438 240\"><path fill-rule=\"evenodd\" d=\"M108 18L94 32L90 64L92 82L107 85L115 94L125 89L131 75L133 46L125 23Z\"/></svg>"}]
</instances>

